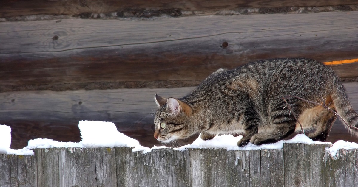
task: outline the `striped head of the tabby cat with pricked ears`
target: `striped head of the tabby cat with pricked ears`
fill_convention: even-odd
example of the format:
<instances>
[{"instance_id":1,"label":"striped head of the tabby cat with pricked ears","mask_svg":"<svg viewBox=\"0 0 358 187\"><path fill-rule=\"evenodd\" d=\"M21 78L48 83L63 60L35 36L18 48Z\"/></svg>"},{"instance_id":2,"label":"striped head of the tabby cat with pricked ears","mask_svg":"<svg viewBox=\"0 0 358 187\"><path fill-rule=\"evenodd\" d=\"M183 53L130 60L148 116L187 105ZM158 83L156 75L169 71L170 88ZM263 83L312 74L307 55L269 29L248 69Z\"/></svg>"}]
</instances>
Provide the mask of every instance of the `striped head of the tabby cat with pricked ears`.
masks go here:
<instances>
[{"instance_id":1,"label":"striped head of the tabby cat with pricked ears","mask_svg":"<svg viewBox=\"0 0 358 187\"><path fill-rule=\"evenodd\" d=\"M157 94L154 100L159 108L154 118L154 138L170 142L192 135L188 122L193 110L187 103L174 98L166 99Z\"/></svg>"}]
</instances>

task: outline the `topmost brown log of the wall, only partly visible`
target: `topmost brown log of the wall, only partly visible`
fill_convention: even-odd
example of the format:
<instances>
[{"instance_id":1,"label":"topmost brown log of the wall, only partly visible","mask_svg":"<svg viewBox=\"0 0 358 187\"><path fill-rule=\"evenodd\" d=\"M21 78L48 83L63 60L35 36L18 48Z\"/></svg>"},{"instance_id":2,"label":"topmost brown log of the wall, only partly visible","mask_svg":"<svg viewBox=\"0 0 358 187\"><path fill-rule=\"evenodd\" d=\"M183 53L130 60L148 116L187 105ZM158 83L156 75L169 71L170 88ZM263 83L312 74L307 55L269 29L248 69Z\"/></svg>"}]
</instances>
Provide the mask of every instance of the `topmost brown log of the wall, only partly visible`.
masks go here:
<instances>
[{"instance_id":1,"label":"topmost brown log of the wall, only partly visible","mask_svg":"<svg viewBox=\"0 0 358 187\"><path fill-rule=\"evenodd\" d=\"M328 0L328 1L263 1L263 0L188 0L188 1L46 1L46 0L11 0L0 3L0 18L21 15L37 14L67 14L78 15L84 13L109 13L116 11L141 10L141 9L182 9L190 11L210 11L210 10L232 10L238 8L275 8L281 6L337 6L357 4L354 0ZM349 7L348 7L349 8ZM345 9L348 9L345 7ZM343 9L343 10L345 10Z\"/></svg>"}]
</instances>

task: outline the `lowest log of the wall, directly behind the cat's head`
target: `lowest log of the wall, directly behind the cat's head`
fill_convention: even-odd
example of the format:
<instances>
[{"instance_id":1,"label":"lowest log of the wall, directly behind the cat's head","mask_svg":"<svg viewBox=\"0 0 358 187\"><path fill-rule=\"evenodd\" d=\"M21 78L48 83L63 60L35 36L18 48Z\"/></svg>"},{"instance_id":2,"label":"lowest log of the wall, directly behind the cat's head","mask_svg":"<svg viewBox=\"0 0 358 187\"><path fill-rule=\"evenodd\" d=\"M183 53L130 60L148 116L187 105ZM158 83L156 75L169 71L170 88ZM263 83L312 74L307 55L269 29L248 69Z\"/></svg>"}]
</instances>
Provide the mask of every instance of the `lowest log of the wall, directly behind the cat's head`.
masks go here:
<instances>
[{"instance_id":1,"label":"lowest log of the wall, directly behind the cat's head","mask_svg":"<svg viewBox=\"0 0 358 187\"><path fill-rule=\"evenodd\" d=\"M350 102L358 110L358 83L345 83ZM160 145L154 137L154 94L180 98L193 87L157 89L74 90L65 92L24 91L0 93L0 123L11 127L11 148L23 148L29 139L49 138L79 142L79 120L109 121L118 131L143 146ZM178 141L191 143L197 136ZM329 142L344 139L358 142L336 121ZM168 144L174 146L174 144Z\"/></svg>"}]
</instances>

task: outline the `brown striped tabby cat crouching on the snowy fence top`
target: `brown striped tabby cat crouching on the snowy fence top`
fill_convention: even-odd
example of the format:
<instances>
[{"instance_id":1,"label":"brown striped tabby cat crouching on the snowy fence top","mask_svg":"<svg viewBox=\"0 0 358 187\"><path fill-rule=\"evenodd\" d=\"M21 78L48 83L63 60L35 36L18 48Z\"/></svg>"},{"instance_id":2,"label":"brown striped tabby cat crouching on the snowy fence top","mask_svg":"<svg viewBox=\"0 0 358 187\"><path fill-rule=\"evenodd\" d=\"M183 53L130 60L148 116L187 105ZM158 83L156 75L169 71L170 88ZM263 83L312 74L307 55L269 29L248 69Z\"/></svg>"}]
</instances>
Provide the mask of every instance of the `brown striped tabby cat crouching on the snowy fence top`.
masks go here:
<instances>
[{"instance_id":1,"label":"brown striped tabby cat crouching on the snowy fence top","mask_svg":"<svg viewBox=\"0 0 358 187\"><path fill-rule=\"evenodd\" d=\"M329 105L349 125L358 127L342 82L328 66L311 59L268 59L236 69L219 69L187 96L155 95L154 137L162 142L201 133L203 140L217 134L243 133L238 146L280 141L295 131L325 141L337 118L332 111L297 98ZM287 104L291 107L289 110ZM294 115L295 114L295 115ZM358 131L350 129L356 136Z\"/></svg>"}]
</instances>

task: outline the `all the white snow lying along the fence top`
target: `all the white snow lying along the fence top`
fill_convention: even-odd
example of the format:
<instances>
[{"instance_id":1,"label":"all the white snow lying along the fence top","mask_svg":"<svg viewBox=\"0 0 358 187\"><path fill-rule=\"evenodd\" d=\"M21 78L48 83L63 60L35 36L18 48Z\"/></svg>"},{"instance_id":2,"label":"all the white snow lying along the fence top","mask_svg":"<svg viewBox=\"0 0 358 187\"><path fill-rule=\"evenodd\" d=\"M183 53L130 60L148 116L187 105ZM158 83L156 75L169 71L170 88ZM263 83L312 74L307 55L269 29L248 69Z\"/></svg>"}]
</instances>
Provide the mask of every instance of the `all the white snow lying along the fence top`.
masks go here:
<instances>
[{"instance_id":1,"label":"all the white snow lying along the fence top","mask_svg":"<svg viewBox=\"0 0 358 187\"><path fill-rule=\"evenodd\" d=\"M144 147L133 138L126 136L117 131L115 124L111 122L99 121L80 121L78 128L81 132L81 142L59 142L51 139L37 138L30 140L28 146L20 150L10 149L11 143L11 128L5 125L0 125L0 154L20 154L33 155L30 149L35 148L51 148L51 147L77 147L77 148L97 148L97 147L135 147L133 152L143 151L143 153L151 152L153 149L168 148L166 146L154 146L152 148ZM318 143L331 144L329 142L315 142L303 134L297 134L294 138L287 141L279 141L271 144L263 144L256 146L248 143L244 147L238 147L237 142L242 136L234 137L232 135L215 136L211 140L204 141L199 137L192 143L175 150L184 151L187 148L224 148L227 151L231 150L258 150L258 149L282 149L284 143ZM327 148L332 157L335 157L339 149L358 149L357 143L345 142L343 140L337 141L332 147Z\"/></svg>"}]
</instances>

